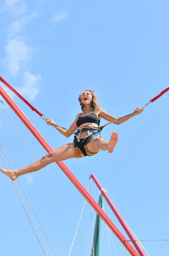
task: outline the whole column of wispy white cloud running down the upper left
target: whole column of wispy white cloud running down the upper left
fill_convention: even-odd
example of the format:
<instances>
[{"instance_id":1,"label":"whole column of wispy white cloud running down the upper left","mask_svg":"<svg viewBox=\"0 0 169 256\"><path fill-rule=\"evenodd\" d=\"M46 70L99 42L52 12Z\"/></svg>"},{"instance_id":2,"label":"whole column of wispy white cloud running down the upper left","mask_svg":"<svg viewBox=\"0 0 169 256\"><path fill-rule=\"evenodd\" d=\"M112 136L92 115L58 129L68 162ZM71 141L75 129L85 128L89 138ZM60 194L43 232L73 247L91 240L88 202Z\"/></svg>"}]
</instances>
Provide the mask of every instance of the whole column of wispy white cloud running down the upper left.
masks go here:
<instances>
[{"instance_id":1,"label":"whole column of wispy white cloud running down the upper left","mask_svg":"<svg viewBox=\"0 0 169 256\"><path fill-rule=\"evenodd\" d=\"M8 11L9 14L21 15L17 20L12 21L8 25L7 29L7 44L5 48L5 60L3 61L3 66L6 68L7 76L16 77L19 75L23 77L23 82L19 80L19 84L12 86L27 99L33 101L35 97L39 94L40 87L39 81L41 80L40 75L33 75L28 70L28 61L31 61L33 49L26 44L26 41L22 38L22 32L26 25L28 25L29 20L34 17L39 17L37 12L30 12L29 14L24 14L26 8L23 6L24 0L6 0L3 12ZM2 9L0 10L2 12ZM28 70L25 72L25 70ZM17 81L18 83L18 81ZM19 87L20 85L23 87ZM2 85L3 86L3 85ZM3 86L4 87L4 86ZM8 92L9 96L13 99L15 94L11 92L7 87L4 87Z\"/></svg>"}]
</instances>

